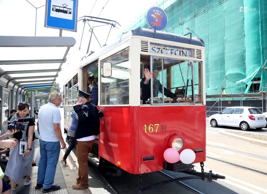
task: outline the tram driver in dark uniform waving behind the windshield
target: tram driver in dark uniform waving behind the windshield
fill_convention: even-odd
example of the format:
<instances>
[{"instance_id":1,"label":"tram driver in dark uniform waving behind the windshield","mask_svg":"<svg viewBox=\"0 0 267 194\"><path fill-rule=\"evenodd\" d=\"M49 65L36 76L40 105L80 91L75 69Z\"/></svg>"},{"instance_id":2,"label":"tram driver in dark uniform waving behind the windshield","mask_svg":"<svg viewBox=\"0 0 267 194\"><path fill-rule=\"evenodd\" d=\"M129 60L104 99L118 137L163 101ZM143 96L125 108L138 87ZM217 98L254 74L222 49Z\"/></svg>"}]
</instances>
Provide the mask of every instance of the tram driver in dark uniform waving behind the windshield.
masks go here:
<instances>
[{"instance_id":1,"label":"tram driver in dark uniform waving behind the windshield","mask_svg":"<svg viewBox=\"0 0 267 194\"><path fill-rule=\"evenodd\" d=\"M162 88L164 88L164 95L167 97L183 97L181 94L175 94L163 87L160 81L157 79L159 76L159 68L153 64L152 72L150 73L150 67L144 69L144 78L140 82L142 97L141 100L145 102L150 98L150 80L153 76L153 97L158 97L159 92L162 93Z\"/></svg>"}]
</instances>

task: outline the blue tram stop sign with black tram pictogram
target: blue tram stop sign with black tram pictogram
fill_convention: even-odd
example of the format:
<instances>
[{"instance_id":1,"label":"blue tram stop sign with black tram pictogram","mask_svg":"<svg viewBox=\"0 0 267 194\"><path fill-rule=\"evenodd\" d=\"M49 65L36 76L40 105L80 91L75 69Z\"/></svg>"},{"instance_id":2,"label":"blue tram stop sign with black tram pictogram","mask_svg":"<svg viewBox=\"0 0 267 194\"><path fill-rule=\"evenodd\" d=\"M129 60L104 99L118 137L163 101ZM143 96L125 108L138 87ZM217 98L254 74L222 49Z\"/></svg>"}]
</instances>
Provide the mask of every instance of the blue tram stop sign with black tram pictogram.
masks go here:
<instances>
[{"instance_id":1,"label":"blue tram stop sign with black tram pictogram","mask_svg":"<svg viewBox=\"0 0 267 194\"><path fill-rule=\"evenodd\" d=\"M78 0L46 0L44 27L77 32Z\"/></svg>"}]
</instances>

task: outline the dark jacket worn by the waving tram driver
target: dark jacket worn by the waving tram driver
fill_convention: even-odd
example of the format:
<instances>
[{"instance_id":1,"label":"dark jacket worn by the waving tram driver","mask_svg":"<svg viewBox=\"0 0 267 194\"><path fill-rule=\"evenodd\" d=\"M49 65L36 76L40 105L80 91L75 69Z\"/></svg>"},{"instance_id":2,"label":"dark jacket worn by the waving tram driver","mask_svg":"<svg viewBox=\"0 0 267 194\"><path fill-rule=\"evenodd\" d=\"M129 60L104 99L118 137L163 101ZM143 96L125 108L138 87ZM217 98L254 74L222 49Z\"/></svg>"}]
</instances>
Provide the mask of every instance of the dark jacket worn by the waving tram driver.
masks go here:
<instances>
[{"instance_id":1,"label":"dark jacket worn by the waving tram driver","mask_svg":"<svg viewBox=\"0 0 267 194\"><path fill-rule=\"evenodd\" d=\"M147 99L150 98L150 81L151 81L151 79L149 80L148 84L144 84L144 81L145 81L145 77L142 78L142 80L140 82L140 87L142 89L142 100L143 100L143 104L145 104L145 101L147 101ZM159 92L162 93L162 85L161 85L161 83L160 83L159 80L154 79L154 84L153 84L153 97L158 97ZM166 97L171 97L171 98L176 97L176 94L175 93L170 92L165 87L164 87L164 95Z\"/></svg>"}]
</instances>

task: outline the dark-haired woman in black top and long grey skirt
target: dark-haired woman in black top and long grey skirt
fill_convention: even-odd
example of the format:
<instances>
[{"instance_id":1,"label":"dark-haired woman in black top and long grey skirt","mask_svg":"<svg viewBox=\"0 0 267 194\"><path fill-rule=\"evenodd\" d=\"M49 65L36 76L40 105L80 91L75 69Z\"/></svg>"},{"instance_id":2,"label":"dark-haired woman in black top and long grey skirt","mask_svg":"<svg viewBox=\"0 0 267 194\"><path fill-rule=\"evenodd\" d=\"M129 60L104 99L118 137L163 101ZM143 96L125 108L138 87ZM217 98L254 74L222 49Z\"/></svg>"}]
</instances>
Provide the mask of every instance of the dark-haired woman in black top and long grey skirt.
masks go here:
<instances>
[{"instance_id":1,"label":"dark-haired woman in black top and long grey skirt","mask_svg":"<svg viewBox=\"0 0 267 194\"><path fill-rule=\"evenodd\" d=\"M22 102L18 104L18 113L13 115L9 122L19 118L29 118L29 103ZM16 193L15 187L19 179L26 176L24 186L31 183L32 160L34 157L34 121L24 122L25 130L20 130L14 134L18 140L18 145L10 150L9 160L6 167L5 175L10 178L11 193ZM23 142L28 145L28 149L23 148ZM25 147L24 147L25 148ZM22 152L22 153L20 153Z\"/></svg>"}]
</instances>

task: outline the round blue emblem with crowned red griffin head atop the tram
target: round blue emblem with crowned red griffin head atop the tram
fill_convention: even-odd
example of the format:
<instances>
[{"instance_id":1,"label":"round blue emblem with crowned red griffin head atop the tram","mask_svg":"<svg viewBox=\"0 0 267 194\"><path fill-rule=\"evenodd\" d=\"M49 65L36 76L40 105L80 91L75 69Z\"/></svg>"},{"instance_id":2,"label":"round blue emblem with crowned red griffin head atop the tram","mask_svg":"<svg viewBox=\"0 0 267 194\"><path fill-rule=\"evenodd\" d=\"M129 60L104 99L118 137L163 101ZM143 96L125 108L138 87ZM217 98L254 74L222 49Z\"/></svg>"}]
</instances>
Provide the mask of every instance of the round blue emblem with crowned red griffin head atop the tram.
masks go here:
<instances>
[{"instance_id":1,"label":"round blue emblem with crowned red griffin head atop the tram","mask_svg":"<svg viewBox=\"0 0 267 194\"><path fill-rule=\"evenodd\" d=\"M168 17L160 7L151 7L147 11L146 21L150 27L155 26L156 30L164 30L168 25Z\"/></svg>"}]
</instances>

